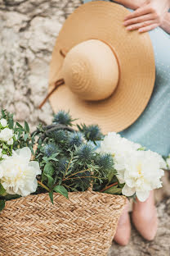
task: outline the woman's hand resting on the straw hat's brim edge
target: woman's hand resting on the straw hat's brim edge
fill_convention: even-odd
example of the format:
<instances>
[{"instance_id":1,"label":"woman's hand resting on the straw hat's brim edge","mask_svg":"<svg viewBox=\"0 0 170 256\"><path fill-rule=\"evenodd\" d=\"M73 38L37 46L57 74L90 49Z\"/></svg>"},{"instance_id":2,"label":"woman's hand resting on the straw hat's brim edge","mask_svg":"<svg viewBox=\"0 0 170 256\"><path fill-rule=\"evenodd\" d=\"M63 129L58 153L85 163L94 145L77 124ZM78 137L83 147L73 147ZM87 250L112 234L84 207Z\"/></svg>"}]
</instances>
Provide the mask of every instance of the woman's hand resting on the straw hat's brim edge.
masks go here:
<instances>
[{"instance_id":1,"label":"woman's hand resting on the straw hat's brim edge","mask_svg":"<svg viewBox=\"0 0 170 256\"><path fill-rule=\"evenodd\" d=\"M147 32L161 25L170 7L170 0L147 0L124 19L127 30Z\"/></svg>"}]
</instances>

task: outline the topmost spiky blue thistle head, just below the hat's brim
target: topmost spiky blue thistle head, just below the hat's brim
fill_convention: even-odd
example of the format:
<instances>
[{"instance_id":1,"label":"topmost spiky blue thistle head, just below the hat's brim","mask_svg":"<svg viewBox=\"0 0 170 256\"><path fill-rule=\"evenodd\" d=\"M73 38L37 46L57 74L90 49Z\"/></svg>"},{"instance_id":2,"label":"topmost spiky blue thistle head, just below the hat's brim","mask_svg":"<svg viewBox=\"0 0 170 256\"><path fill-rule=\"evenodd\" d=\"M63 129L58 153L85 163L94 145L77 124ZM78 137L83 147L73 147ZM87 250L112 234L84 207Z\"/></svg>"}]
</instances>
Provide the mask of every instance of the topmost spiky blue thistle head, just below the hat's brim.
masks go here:
<instances>
[{"instance_id":1,"label":"topmost spiky blue thistle head, just below the hat's brim","mask_svg":"<svg viewBox=\"0 0 170 256\"><path fill-rule=\"evenodd\" d=\"M63 110L60 110L52 120L53 123L58 123L65 126L72 126L72 121L74 120L69 115L69 112L65 112Z\"/></svg>"}]
</instances>

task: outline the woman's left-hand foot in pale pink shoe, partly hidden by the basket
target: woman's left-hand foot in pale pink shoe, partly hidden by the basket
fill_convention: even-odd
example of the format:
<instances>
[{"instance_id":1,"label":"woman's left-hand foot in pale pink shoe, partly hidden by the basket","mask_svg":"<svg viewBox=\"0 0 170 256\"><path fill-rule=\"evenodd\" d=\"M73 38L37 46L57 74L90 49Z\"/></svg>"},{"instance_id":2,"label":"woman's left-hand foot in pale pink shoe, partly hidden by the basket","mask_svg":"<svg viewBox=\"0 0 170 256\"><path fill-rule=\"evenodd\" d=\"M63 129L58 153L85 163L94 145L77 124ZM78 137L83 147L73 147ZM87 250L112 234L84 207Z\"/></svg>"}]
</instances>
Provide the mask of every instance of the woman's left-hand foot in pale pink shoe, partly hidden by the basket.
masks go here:
<instances>
[{"instance_id":1,"label":"woman's left-hand foot in pale pink shoe, partly hidden by the basket","mask_svg":"<svg viewBox=\"0 0 170 256\"><path fill-rule=\"evenodd\" d=\"M128 245L128 241L131 236L131 222L128 215L128 199L127 204L123 208L123 213L119 218L116 234L114 235L114 241L119 245Z\"/></svg>"}]
</instances>

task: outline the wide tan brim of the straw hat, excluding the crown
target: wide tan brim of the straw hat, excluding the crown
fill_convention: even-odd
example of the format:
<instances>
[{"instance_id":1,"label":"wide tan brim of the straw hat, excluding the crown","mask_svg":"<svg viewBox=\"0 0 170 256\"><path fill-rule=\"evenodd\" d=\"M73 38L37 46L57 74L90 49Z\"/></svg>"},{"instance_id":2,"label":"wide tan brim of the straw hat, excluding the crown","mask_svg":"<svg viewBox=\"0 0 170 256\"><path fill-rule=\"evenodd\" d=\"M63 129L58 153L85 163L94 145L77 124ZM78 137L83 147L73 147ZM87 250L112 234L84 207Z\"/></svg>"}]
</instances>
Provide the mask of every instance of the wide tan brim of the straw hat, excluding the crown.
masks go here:
<instances>
[{"instance_id":1,"label":"wide tan brim of the straw hat, excluding the crown","mask_svg":"<svg viewBox=\"0 0 170 256\"><path fill-rule=\"evenodd\" d=\"M98 124L103 133L124 130L140 117L154 89L154 51L148 33L128 31L123 26L128 13L113 2L88 2L65 21L52 53L49 91L62 78L64 57L60 49L69 51L88 39L100 39L114 48L119 59L119 85L110 98L98 102L84 101L62 85L49 98L54 112L69 111L78 118L75 123Z\"/></svg>"}]
</instances>

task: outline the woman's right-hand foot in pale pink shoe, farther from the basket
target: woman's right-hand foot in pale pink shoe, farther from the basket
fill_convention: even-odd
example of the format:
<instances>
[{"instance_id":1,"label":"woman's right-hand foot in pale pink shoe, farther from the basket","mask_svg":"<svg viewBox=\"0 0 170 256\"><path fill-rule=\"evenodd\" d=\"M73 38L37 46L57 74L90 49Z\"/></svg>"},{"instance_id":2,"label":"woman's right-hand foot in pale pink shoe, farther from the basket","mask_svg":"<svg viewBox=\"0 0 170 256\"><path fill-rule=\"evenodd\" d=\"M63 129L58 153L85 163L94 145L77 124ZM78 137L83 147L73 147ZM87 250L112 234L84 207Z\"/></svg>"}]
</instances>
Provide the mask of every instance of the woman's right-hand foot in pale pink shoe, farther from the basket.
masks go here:
<instances>
[{"instance_id":1,"label":"woman's right-hand foot in pale pink shoe, farther from the basket","mask_svg":"<svg viewBox=\"0 0 170 256\"><path fill-rule=\"evenodd\" d=\"M158 226L157 211L154 206L154 191L150 191L150 197L145 202L142 203L136 199L136 203L133 203L132 222L146 240L154 239Z\"/></svg>"}]
</instances>

